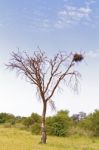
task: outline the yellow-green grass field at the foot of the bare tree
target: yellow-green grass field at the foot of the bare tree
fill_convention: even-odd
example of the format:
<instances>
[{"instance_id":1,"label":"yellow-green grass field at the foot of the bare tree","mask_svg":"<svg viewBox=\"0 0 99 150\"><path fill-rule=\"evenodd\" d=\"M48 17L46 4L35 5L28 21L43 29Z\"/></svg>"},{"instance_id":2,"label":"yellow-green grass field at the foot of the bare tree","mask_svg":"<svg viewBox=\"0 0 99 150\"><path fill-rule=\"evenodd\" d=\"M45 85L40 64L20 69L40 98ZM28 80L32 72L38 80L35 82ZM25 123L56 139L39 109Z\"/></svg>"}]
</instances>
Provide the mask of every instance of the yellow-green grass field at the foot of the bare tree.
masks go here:
<instances>
[{"instance_id":1,"label":"yellow-green grass field at the foot of the bare tree","mask_svg":"<svg viewBox=\"0 0 99 150\"><path fill-rule=\"evenodd\" d=\"M46 145L39 142L30 132L0 127L0 150L99 150L99 138L48 136Z\"/></svg>"}]
</instances>

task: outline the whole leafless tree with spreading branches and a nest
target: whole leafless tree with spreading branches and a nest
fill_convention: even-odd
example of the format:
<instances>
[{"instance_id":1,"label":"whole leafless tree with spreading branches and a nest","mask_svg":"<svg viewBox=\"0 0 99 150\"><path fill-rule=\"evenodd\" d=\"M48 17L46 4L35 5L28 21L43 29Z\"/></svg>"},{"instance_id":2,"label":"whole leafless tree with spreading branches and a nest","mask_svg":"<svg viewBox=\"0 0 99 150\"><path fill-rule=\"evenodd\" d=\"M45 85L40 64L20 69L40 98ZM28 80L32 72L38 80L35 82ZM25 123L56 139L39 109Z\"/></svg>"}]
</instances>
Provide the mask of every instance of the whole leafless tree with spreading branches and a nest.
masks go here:
<instances>
[{"instance_id":1,"label":"whole leafless tree with spreading branches and a nest","mask_svg":"<svg viewBox=\"0 0 99 150\"><path fill-rule=\"evenodd\" d=\"M45 127L47 104L50 102L54 108L54 101L51 98L62 81L68 81L69 85L75 81L74 88L77 87L80 74L73 68L75 63L82 59L81 54L70 53L67 55L61 52L56 54L55 57L49 58L41 50L34 52L32 57L26 52L12 52L11 54L8 68L16 69L19 74L25 75L28 81L36 87L43 103L41 143L46 143L47 138Z\"/></svg>"}]
</instances>

